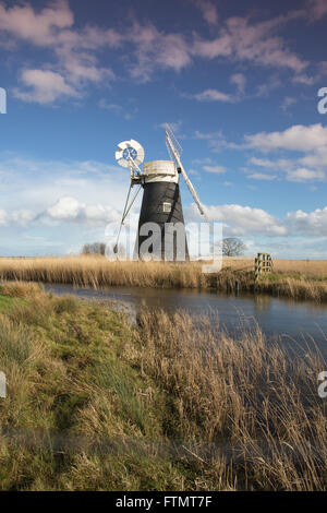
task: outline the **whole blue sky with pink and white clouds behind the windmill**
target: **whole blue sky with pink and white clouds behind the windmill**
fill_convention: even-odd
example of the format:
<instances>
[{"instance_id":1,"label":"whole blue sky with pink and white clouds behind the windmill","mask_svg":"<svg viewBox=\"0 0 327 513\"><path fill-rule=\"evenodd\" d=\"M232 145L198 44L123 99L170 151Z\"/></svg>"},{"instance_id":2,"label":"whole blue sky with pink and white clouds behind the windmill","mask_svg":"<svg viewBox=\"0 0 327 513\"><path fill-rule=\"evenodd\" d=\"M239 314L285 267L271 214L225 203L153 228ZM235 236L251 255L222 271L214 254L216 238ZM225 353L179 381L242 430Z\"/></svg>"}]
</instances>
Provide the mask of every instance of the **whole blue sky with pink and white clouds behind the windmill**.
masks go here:
<instances>
[{"instance_id":1,"label":"whole blue sky with pink and white clouds behind the windmill","mask_svg":"<svg viewBox=\"0 0 327 513\"><path fill-rule=\"evenodd\" d=\"M327 0L0 0L0 255L107 241L117 144L168 159L168 122L225 237L327 258L326 26Z\"/></svg>"}]
</instances>

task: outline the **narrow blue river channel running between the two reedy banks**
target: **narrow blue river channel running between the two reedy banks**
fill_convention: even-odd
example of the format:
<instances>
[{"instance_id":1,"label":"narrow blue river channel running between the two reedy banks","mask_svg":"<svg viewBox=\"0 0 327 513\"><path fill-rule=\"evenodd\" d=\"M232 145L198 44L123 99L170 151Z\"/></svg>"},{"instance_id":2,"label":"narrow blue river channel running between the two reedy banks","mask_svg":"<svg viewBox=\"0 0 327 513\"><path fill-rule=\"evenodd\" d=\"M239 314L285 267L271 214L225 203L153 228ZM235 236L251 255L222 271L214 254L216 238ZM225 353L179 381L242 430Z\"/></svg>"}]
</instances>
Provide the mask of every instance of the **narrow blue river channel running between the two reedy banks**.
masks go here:
<instances>
[{"instance_id":1,"label":"narrow blue river channel running between the two reedy banks","mask_svg":"<svg viewBox=\"0 0 327 513\"><path fill-rule=\"evenodd\" d=\"M245 329L261 326L269 341L286 346L306 347L316 344L327 357L327 306L311 301L274 298L266 295L239 297L193 289L110 287L100 290L47 285L56 295L73 294L84 299L112 301L113 308L125 309L135 319L142 308L178 309L193 315L206 314L211 322L238 337Z\"/></svg>"}]
</instances>

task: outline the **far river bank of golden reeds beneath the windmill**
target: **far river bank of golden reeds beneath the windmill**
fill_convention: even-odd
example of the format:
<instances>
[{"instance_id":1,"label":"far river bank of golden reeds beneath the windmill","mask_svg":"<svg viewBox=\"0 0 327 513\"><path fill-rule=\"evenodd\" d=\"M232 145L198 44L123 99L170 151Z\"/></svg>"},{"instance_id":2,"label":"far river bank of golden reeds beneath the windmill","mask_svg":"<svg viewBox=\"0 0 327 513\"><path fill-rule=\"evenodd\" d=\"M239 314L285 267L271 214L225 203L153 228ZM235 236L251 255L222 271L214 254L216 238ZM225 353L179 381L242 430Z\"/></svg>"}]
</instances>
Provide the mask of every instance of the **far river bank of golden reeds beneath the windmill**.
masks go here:
<instances>
[{"instance_id":1,"label":"far river bank of golden reeds beneath the windmill","mask_svg":"<svg viewBox=\"0 0 327 513\"><path fill-rule=\"evenodd\" d=\"M327 261L275 261L274 273L255 282L253 259L225 259L219 273L204 274L198 262L109 262L104 256L2 258L0 281L94 288L197 288L222 293L264 293L276 297L327 301Z\"/></svg>"}]
</instances>

